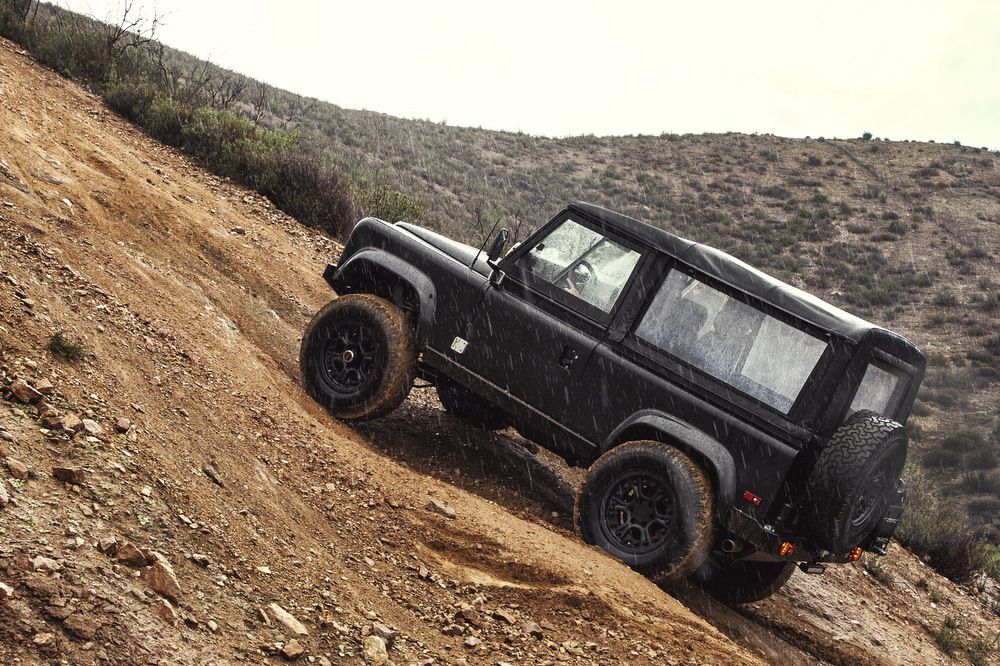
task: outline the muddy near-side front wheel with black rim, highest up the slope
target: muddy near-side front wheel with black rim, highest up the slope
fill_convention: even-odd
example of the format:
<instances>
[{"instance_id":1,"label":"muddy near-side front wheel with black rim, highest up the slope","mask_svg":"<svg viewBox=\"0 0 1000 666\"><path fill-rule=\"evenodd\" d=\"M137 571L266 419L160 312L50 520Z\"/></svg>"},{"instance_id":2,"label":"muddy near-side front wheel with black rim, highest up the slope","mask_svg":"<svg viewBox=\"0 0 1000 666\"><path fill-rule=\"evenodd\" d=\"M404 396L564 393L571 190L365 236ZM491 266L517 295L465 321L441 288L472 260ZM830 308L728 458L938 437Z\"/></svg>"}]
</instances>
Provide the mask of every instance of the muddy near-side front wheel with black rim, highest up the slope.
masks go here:
<instances>
[{"instance_id":1,"label":"muddy near-side front wheel with black rim, highest up the slope","mask_svg":"<svg viewBox=\"0 0 1000 666\"><path fill-rule=\"evenodd\" d=\"M384 298L341 296L309 322L299 366L306 391L337 418L384 416L413 386L413 328L406 313Z\"/></svg>"}]
</instances>

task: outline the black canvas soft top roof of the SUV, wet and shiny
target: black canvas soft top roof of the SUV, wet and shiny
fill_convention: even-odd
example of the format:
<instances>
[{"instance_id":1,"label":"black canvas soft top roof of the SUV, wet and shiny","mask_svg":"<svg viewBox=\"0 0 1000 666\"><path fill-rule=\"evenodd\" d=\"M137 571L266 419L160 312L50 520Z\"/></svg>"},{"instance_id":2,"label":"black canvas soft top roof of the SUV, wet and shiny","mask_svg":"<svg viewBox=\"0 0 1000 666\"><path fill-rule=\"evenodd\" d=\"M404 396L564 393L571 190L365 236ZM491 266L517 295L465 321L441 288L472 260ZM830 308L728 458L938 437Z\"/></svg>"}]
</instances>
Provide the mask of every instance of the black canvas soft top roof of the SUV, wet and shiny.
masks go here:
<instances>
[{"instance_id":1,"label":"black canvas soft top roof of the SUV, wet and shiny","mask_svg":"<svg viewBox=\"0 0 1000 666\"><path fill-rule=\"evenodd\" d=\"M711 278L835 335L858 342L869 331L885 330L709 245L689 241L593 204L576 202L570 204L569 210L598 224L620 230L626 236L661 250Z\"/></svg>"}]
</instances>

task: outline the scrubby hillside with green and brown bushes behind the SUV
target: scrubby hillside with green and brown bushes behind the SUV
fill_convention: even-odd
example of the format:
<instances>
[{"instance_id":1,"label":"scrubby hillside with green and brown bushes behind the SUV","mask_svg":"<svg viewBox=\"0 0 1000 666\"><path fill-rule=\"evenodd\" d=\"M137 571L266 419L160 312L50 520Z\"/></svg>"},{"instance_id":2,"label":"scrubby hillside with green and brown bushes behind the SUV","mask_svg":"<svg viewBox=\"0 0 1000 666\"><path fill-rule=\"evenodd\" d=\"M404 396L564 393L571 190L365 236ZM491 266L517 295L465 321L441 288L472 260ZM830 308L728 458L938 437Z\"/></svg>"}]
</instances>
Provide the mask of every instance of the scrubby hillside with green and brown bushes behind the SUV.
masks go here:
<instances>
[{"instance_id":1,"label":"scrubby hillside with green and brown bushes behind the SUV","mask_svg":"<svg viewBox=\"0 0 1000 666\"><path fill-rule=\"evenodd\" d=\"M94 82L153 136L334 235L371 214L474 244L500 219L523 238L585 200L716 245L907 335L930 366L909 423L919 463L910 475L940 491L911 506L903 535L932 561L975 551L974 534L1000 541L996 152L867 133L550 139L449 127L305 99L141 29L115 32L46 6L25 17L10 10L17 4L0 14L4 34ZM956 523L944 498L971 524ZM925 533L943 524L962 548Z\"/></svg>"}]
</instances>

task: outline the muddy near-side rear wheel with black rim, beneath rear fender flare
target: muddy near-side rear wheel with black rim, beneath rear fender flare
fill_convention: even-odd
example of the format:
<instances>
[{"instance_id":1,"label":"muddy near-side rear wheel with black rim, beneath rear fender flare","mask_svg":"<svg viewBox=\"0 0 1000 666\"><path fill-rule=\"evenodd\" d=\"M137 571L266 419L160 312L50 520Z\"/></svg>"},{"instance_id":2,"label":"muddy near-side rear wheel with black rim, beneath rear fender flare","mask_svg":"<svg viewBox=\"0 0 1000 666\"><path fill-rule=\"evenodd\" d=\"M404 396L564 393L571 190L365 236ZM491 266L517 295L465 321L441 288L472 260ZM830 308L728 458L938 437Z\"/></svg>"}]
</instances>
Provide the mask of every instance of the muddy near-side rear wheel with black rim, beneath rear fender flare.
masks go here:
<instances>
[{"instance_id":1,"label":"muddy near-side rear wheel with black rim, beneath rear fender flare","mask_svg":"<svg viewBox=\"0 0 1000 666\"><path fill-rule=\"evenodd\" d=\"M672 446L628 442L590 467L573 506L584 541L658 582L708 557L714 495L705 472Z\"/></svg>"}]
</instances>

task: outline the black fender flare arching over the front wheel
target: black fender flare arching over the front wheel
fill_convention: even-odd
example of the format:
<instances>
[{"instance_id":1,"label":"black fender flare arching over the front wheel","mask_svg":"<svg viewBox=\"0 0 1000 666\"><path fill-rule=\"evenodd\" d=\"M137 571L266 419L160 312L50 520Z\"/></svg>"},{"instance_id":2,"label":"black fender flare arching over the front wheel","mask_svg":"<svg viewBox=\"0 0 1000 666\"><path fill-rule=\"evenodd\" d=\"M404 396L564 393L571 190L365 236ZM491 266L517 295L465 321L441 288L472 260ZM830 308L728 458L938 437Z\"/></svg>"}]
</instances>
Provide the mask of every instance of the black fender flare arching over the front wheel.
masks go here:
<instances>
[{"instance_id":1,"label":"black fender flare arching over the front wheel","mask_svg":"<svg viewBox=\"0 0 1000 666\"><path fill-rule=\"evenodd\" d=\"M392 280L385 280L386 274ZM383 279L379 280L379 277ZM351 255L329 280L330 286L338 294L368 292L388 300L395 300L397 294L393 293L393 287L400 282L409 286L418 299L417 340L423 342L427 331L434 324L437 289L431 279L412 264L385 250L366 248Z\"/></svg>"}]
</instances>

